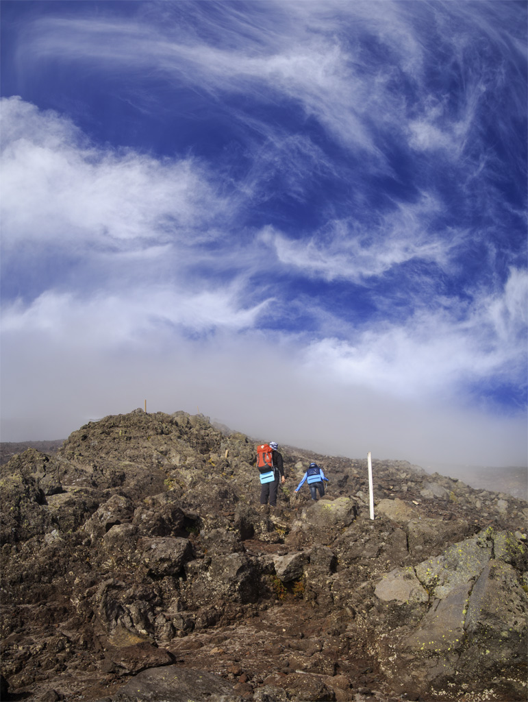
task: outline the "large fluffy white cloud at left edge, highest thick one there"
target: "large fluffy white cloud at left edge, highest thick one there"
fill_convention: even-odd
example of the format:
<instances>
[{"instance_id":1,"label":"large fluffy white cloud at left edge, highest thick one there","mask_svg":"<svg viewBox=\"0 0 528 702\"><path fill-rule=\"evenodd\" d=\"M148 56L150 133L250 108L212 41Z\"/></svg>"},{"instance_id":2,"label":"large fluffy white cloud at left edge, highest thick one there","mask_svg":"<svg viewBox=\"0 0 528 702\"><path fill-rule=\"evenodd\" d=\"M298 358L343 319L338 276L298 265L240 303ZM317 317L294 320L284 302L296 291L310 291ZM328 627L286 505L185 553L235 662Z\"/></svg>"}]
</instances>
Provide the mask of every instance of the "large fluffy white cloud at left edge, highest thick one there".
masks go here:
<instances>
[{"instance_id":1,"label":"large fluffy white cloud at left edge, highest thick one there","mask_svg":"<svg viewBox=\"0 0 528 702\"><path fill-rule=\"evenodd\" d=\"M68 119L20 98L1 109L4 244L122 248L214 236L226 203L196 161L96 148Z\"/></svg>"}]
</instances>

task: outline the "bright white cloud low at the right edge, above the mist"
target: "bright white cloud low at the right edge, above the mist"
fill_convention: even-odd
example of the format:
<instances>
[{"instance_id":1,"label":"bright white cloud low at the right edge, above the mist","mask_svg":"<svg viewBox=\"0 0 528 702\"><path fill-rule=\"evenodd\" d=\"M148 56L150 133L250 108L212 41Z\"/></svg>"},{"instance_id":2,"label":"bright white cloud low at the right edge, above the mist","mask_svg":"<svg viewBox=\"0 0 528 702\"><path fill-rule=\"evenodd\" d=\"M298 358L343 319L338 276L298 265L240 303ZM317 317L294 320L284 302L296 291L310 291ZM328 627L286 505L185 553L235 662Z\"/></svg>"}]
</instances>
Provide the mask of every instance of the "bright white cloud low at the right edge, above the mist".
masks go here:
<instances>
[{"instance_id":1,"label":"bright white cloud low at the right edge, above the mist","mask_svg":"<svg viewBox=\"0 0 528 702\"><path fill-rule=\"evenodd\" d=\"M306 364L339 383L395 397L453 399L492 376L526 386L527 300L528 274L512 270L500 295L462 309L421 309L403 325L372 323L353 341L314 341Z\"/></svg>"}]
</instances>

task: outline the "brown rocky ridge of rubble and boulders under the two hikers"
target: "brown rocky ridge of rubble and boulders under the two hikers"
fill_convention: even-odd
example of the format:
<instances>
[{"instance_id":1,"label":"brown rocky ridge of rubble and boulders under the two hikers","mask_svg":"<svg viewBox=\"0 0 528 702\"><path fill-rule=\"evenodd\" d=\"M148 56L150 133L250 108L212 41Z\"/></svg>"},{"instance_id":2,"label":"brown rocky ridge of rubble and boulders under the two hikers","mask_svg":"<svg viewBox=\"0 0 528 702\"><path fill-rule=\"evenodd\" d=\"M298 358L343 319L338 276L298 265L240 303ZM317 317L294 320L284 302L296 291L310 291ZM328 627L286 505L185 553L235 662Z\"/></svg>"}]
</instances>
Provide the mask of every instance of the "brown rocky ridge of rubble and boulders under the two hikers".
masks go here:
<instances>
[{"instance_id":1,"label":"brown rocky ridge of rubble and boulders under the two hikers","mask_svg":"<svg viewBox=\"0 0 528 702\"><path fill-rule=\"evenodd\" d=\"M526 502L136 410L0 468L2 699L526 699ZM313 503L310 461L330 477Z\"/></svg>"}]
</instances>

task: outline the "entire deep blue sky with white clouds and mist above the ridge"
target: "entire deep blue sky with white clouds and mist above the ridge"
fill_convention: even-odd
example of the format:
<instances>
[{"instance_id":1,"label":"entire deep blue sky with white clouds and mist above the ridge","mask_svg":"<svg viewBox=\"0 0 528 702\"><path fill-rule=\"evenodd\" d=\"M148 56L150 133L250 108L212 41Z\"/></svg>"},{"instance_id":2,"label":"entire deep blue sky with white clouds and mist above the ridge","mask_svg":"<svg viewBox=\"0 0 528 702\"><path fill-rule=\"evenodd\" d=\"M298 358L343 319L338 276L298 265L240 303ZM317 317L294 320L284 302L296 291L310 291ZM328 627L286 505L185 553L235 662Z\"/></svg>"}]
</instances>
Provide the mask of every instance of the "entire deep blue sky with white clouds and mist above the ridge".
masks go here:
<instances>
[{"instance_id":1,"label":"entire deep blue sky with white clouds and mist above the ridge","mask_svg":"<svg viewBox=\"0 0 528 702\"><path fill-rule=\"evenodd\" d=\"M526 465L526 3L0 9L2 440Z\"/></svg>"}]
</instances>

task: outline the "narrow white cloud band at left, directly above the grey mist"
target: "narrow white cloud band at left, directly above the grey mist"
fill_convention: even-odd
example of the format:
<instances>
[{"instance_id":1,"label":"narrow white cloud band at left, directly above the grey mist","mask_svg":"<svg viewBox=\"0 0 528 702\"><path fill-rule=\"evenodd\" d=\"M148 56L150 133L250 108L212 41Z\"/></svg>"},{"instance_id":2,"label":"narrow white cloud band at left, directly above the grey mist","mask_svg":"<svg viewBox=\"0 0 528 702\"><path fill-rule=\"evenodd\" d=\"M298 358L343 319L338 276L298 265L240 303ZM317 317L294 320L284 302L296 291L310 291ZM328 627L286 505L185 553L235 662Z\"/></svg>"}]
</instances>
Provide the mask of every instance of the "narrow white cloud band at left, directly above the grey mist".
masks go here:
<instances>
[{"instance_id":1,"label":"narrow white cloud band at left, directly above the grey mist","mask_svg":"<svg viewBox=\"0 0 528 702\"><path fill-rule=\"evenodd\" d=\"M196 334L253 327L269 303L270 300L263 300L252 307L245 306L236 284L198 293L149 286L84 299L73 293L47 291L29 305L21 300L5 305L2 327L6 335L49 333L64 341L70 350L142 346L145 340L150 345L153 338L170 345L186 331Z\"/></svg>"}]
</instances>

